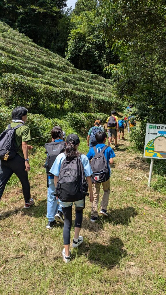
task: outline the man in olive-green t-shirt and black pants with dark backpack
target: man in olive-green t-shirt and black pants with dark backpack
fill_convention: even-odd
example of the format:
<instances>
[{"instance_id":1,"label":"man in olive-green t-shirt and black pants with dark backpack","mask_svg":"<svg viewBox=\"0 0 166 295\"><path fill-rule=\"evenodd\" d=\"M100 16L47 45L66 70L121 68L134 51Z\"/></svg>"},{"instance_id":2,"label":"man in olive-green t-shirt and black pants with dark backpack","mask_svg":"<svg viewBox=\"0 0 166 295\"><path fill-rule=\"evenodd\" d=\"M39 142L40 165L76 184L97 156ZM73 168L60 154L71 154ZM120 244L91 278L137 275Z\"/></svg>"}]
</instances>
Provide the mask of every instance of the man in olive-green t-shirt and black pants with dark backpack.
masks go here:
<instances>
[{"instance_id":1,"label":"man in olive-green t-shirt and black pants with dark backpack","mask_svg":"<svg viewBox=\"0 0 166 295\"><path fill-rule=\"evenodd\" d=\"M27 145L31 140L30 130L25 126L27 112L23 106L18 106L12 111L12 123L0 135L0 199L6 183L13 173L17 175L22 184L22 192L25 199L25 209L34 205L30 197L30 183L28 171L30 164L28 150L33 147Z\"/></svg>"}]
</instances>

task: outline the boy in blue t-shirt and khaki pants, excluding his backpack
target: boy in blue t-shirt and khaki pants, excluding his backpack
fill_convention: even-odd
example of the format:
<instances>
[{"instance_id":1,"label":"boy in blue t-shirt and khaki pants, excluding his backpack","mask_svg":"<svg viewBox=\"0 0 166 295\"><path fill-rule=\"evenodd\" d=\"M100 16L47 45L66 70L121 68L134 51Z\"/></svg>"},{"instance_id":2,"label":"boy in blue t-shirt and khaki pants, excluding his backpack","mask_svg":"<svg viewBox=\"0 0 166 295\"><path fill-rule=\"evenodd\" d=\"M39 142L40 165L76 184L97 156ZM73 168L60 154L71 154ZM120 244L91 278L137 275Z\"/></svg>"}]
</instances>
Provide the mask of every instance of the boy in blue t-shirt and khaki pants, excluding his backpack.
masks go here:
<instances>
[{"instance_id":1,"label":"boy in blue t-shirt and khaki pants, excluding his backpack","mask_svg":"<svg viewBox=\"0 0 166 295\"><path fill-rule=\"evenodd\" d=\"M107 134L103 131L100 131L100 132L96 133L95 138L98 142L98 144L96 145L97 152L100 152L102 150L102 148L105 147L105 142L107 140ZM107 160L109 174L111 174L110 164L113 164L113 158L115 157L113 149L111 147L106 148L106 150L104 151L104 155ZM92 158L94 156L95 156L94 148L91 148L89 150L89 153L87 153L87 158L90 161L90 160L92 160ZM91 210L91 219L90 219L90 221L92 221L92 222L95 222L98 219L97 207L98 207L98 203L99 203L100 186L101 186L101 183L93 183L92 184L93 197L94 197L94 201L92 203L92 210ZM99 213L103 214L105 216L108 216L109 214L107 213L107 206L108 206L109 194L110 194L110 178L107 181L102 182L102 188L103 188L104 194L102 196L102 201L101 201L101 206L100 206L101 210Z\"/></svg>"}]
</instances>

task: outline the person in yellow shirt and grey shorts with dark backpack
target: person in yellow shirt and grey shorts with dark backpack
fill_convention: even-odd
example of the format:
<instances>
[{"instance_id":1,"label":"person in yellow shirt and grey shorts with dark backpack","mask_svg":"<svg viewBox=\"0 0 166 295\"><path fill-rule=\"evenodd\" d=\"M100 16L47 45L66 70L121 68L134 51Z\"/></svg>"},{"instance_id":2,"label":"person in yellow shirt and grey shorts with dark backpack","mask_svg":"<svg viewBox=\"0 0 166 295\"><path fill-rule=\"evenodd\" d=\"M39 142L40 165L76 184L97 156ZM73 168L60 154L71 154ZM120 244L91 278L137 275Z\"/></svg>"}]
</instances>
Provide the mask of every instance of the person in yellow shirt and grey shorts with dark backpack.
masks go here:
<instances>
[{"instance_id":1,"label":"person in yellow shirt and grey shorts with dark backpack","mask_svg":"<svg viewBox=\"0 0 166 295\"><path fill-rule=\"evenodd\" d=\"M117 145L117 132L119 132L118 117L116 116L116 111L111 112L111 116L107 119L107 132L108 132L108 146L112 138L115 139L115 148L118 148Z\"/></svg>"}]
</instances>

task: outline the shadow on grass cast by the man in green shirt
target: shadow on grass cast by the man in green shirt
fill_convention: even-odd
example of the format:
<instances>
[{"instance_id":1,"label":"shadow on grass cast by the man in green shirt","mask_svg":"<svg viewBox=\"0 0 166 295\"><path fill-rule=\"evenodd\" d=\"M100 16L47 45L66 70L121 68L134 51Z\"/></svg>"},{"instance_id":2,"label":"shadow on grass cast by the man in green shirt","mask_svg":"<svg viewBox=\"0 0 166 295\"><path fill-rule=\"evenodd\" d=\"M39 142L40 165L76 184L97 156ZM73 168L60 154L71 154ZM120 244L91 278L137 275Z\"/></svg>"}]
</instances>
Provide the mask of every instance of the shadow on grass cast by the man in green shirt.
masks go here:
<instances>
[{"instance_id":1,"label":"shadow on grass cast by the man in green shirt","mask_svg":"<svg viewBox=\"0 0 166 295\"><path fill-rule=\"evenodd\" d=\"M35 202L35 206L29 208L29 209L24 209L22 207L15 207L12 210L5 211L2 214L0 214L0 220L7 218L9 216L12 216L13 214L19 214L22 212L23 215L28 215L30 217L41 217L41 216L46 216L47 214L47 200L41 200Z\"/></svg>"}]
</instances>

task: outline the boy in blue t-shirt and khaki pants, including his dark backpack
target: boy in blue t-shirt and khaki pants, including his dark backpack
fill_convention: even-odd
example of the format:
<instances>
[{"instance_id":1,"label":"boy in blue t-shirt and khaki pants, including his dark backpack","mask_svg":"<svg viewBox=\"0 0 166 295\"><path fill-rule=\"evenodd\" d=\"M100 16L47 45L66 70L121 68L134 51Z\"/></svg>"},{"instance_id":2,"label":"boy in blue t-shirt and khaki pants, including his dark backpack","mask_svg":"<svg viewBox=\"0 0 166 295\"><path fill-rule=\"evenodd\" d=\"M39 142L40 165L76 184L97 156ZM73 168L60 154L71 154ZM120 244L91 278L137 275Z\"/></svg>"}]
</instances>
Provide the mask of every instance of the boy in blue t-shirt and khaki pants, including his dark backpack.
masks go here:
<instances>
[{"instance_id":1,"label":"boy in blue t-shirt and khaki pants, including his dark backpack","mask_svg":"<svg viewBox=\"0 0 166 295\"><path fill-rule=\"evenodd\" d=\"M109 216L107 213L107 206L109 201L110 194L110 164L113 164L113 158L115 157L114 151L112 148L105 145L107 140L107 134L105 132L97 132L96 140L98 144L89 150L87 153L87 158L91 161L91 168L93 174L91 175L92 179L92 188L93 188L93 197L94 201L92 203L91 211L91 222L95 222L98 217L97 207L99 203L100 196L100 186L102 183L102 188L104 194L102 196L100 214Z\"/></svg>"}]
</instances>

